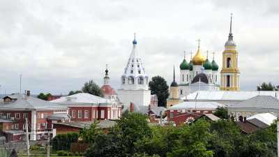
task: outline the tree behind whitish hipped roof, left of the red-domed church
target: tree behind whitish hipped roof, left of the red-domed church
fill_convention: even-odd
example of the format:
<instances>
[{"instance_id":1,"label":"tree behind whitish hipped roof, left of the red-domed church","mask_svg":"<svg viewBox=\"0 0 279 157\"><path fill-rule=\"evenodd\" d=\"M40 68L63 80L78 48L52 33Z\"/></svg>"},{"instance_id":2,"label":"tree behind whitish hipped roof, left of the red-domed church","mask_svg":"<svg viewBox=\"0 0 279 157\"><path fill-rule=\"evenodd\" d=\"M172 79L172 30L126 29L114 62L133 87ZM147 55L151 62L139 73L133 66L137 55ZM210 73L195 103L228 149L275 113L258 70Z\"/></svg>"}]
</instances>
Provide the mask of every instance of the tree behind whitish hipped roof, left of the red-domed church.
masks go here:
<instances>
[{"instance_id":1,"label":"tree behind whitish hipped roof, left of the red-domed church","mask_svg":"<svg viewBox=\"0 0 279 157\"><path fill-rule=\"evenodd\" d=\"M94 96L100 96L102 98L105 97L98 84L93 82L93 80L89 80L89 82L84 83L84 87L82 87L82 92L87 94L92 94Z\"/></svg>"}]
</instances>

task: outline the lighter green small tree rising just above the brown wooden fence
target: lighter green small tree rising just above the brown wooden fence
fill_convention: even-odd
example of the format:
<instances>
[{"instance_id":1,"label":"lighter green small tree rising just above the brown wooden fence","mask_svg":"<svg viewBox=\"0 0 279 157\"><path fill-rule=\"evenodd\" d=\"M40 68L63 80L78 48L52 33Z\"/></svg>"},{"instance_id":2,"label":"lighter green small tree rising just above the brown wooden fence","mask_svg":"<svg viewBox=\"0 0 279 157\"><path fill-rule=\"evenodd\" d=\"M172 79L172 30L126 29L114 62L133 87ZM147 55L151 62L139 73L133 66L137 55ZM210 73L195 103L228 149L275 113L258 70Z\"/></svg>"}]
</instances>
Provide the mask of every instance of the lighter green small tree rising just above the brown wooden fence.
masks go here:
<instances>
[{"instance_id":1,"label":"lighter green small tree rising just above the brown wooden fence","mask_svg":"<svg viewBox=\"0 0 279 157\"><path fill-rule=\"evenodd\" d=\"M89 127L84 126L84 128L80 130L80 137L82 137L84 143L93 144L95 137L98 135L99 131L102 130L98 124L100 124L100 121L95 119L93 124Z\"/></svg>"}]
</instances>

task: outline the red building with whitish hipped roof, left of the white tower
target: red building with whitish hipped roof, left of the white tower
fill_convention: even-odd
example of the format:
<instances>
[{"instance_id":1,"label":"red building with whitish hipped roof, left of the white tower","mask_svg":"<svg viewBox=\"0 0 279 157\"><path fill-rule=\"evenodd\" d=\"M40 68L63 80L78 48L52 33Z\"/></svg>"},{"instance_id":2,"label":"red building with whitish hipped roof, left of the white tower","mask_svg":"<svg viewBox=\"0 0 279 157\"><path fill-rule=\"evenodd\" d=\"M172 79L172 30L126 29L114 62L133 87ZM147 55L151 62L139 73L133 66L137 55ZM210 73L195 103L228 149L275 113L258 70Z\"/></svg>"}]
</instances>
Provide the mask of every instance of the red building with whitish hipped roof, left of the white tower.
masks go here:
<instances>
[{"instance_id":1,"label":"red building with whitish hipped roof, left of the white tower","mask_svg":"<svg viewBox=\"0 0 279 157\"><path fill-rule=\"evenodd\" d=\"M116 99L100 98L86 93L61 97L50 102L70 107L71 121L119 119L123 105Z\"/></svg>"}]
</instances>

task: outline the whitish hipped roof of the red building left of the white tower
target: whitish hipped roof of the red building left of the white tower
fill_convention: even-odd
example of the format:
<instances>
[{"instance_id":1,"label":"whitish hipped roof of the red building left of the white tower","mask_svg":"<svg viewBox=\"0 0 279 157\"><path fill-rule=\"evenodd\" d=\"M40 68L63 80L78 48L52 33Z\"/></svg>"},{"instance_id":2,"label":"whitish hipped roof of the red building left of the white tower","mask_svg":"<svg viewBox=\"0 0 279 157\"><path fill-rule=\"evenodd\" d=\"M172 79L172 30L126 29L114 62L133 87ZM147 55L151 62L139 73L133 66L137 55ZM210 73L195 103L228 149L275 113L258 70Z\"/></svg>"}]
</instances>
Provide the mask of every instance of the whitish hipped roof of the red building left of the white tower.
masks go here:
<instances>
[{"instance_id":1,"label":"whitish hipped roof of the red building left of the white tower","mask_svg":"<svg viewBox=\"0 0 279 157\"><path fill-rule=\"evenodd\" d=\"M68 101L70 100L70 101ZM55 100L51 100L52 103L109 103L115 99L106 99L92 94L79 93L71 96L61 97Z\"/></svg>"}]
</instances>

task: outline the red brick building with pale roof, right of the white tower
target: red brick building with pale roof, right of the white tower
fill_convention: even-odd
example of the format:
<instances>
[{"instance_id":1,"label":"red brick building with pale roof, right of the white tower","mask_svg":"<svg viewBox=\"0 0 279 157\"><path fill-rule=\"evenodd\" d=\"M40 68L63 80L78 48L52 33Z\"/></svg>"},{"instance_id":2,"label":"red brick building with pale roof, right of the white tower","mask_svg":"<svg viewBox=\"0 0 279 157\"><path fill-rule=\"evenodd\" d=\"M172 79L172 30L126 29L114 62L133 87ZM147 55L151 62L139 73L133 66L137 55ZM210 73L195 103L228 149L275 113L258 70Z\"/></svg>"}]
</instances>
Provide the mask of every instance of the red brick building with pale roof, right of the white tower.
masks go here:
<instances>
[{"instance_id":1,"label":"red brick building with pale roof, right of the white tower","mask_svg":"<svg viewBox=\"0 0 279 157\"><path fill-rule=\"evenodd\" d=\"M216 102L183 102L167 108L167 117L173 121L176 126L180 123L189 123L194 119L202 116L202 114L212 114L216 112L216 108L225 107Z\"/></svg>"}]
</instances>

